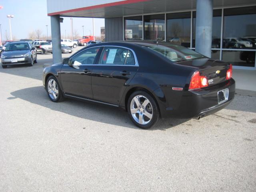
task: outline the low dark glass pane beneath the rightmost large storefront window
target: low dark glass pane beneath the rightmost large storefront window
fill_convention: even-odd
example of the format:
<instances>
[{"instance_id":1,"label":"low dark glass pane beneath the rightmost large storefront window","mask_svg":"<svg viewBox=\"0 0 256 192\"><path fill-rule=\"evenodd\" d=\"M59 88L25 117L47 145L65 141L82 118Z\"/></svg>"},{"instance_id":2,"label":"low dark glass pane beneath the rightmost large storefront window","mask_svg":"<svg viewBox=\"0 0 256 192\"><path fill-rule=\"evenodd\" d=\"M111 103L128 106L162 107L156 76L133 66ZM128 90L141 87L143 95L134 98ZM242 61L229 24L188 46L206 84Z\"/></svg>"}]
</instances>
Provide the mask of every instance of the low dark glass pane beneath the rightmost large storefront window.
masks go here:
<instances>
[{"instance_id":1,"label":"low dark glass pane beneath the rightmost large storefront window","mask_svg":"<svg viewBox=\"0 0 256 192\"><path fill-rule=\"evenodd\" d=\"M222 51L222 60L234 66L254 67L255 51Z\"/></svg>"}]
</instances>

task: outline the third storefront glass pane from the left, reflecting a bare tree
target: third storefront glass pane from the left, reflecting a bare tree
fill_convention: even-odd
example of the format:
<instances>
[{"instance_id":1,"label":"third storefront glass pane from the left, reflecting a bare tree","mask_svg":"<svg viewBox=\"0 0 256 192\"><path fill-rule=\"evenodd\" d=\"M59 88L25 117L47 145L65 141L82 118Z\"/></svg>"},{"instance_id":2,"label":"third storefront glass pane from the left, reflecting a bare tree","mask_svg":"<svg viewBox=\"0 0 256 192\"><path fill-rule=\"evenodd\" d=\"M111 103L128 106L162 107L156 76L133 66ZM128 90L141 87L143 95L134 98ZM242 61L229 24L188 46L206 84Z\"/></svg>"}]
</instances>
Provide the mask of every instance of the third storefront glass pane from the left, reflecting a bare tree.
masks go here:
<instances>
[{"instance_id":1,"label":"third storefront glass pane from the left, reflecting a bare tree","mask_svg":"<svg viewBox=\"0 0 256 192\"><path fill-rule=\"evenodd\" d=\"M166 14L166 41L190 47L191 12Z\"/></svg>"}]
</instances>

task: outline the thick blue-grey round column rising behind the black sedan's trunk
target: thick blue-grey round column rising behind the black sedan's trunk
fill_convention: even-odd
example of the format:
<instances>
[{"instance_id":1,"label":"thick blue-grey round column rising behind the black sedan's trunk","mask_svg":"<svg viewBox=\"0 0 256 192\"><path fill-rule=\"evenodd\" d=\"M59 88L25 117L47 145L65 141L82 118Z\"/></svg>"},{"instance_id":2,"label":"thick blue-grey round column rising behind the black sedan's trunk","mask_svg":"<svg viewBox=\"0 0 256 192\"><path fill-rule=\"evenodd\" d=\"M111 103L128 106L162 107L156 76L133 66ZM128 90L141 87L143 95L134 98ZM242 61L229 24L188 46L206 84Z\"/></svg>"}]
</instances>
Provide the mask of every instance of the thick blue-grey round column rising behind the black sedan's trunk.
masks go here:
<instances>
[{"instance_id":1,"label":"thick blue-grey round column rising behind the black sedan's trunk","mask_svg":"<svg viewBox=\"0 0 256 192\"><path fill-rule=\"evenodd\" d=\"M213 0L196 0L196 52L211 58Z\"/></svg>"}]
</instances>

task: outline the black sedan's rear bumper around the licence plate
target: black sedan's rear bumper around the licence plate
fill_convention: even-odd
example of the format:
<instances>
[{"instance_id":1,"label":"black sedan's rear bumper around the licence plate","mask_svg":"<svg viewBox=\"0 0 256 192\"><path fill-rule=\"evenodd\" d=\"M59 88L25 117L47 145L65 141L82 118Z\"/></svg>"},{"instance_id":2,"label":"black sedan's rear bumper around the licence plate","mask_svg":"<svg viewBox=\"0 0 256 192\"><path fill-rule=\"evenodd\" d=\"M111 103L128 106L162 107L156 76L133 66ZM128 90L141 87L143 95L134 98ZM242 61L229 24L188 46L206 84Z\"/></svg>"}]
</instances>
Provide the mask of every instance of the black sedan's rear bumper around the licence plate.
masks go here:
<instances>
[{"instance_id":1,"label":"black sedan's rear bumper around the licence plate","mask_svg":"<svg viewBox=\"0 0 256 192\"><path fill-rule=\"evenodd\" d=\"M218 91L228 88L228 100L218 104ZM166 89L166 88L164 88ZM162 118L198 118L213 114L234 99L235 81L230 79L221 84L200 90L164 90L165 104L159 101Z\"/></svg>"}]
</instances>

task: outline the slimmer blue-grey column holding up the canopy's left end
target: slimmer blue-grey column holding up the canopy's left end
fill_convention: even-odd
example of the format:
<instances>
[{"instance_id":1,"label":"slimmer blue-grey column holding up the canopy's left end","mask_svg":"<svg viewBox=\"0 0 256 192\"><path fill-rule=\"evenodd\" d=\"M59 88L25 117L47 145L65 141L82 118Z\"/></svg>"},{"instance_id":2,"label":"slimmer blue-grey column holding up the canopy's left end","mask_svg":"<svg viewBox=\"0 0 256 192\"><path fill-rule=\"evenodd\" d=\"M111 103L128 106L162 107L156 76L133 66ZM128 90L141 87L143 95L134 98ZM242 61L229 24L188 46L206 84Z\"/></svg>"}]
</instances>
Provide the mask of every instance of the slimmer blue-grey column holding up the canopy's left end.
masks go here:
<instances>
[{"instance_id":1,"label":"slimmer blue-grey column holding up the canopy's left end","mask_svg":"<svg viewBox=\"0 0 256 192\"><path fill-rule=\"evenodd\" d=\"M52 60L53 63L61 63L61 44L60 44L60 16L51 16L51 31L52 31Z\"/></svg>"}]
</instances>

